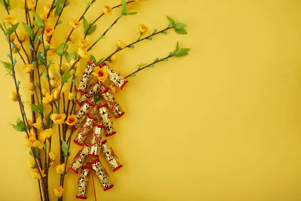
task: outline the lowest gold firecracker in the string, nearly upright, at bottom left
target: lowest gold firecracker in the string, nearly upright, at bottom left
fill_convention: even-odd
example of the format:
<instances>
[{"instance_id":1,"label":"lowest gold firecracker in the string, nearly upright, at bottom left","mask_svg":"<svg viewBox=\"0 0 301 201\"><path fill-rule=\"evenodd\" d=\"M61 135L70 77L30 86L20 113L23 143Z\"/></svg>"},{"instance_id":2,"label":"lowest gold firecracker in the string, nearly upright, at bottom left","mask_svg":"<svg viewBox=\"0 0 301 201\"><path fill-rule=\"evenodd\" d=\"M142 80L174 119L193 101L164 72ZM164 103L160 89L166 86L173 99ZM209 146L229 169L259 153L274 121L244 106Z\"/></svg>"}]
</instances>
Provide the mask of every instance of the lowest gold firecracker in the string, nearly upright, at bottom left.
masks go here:
<instances>
[{"instance_id":1,"label":"lowest gold firecracker in the string, nearly upright, at bottom left","mask_svg":"<svg viewBox=\"0 0 301 201\"><path fill-rule=\"evenodd\" d=\"M76 198L87 199L90 174L91 174L91 167L82 166L81 173L79 174L78 183L77 183L78 187L77 187Z\"/></svg>"}]
</instances>

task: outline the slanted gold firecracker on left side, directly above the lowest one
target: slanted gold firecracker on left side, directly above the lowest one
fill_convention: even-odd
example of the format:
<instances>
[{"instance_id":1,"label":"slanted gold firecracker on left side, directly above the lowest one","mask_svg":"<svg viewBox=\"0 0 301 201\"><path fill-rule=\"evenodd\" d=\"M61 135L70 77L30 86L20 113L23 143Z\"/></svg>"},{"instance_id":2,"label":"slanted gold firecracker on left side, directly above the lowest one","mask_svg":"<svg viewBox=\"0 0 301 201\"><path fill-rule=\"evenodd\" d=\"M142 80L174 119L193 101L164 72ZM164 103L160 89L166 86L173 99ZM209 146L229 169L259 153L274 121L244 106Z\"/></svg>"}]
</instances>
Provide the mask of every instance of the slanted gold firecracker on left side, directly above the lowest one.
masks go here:
<instances>
[{"instance_id":1,"label":"slanted gold firecracker on left side, directly above the lowest one","mask_svg":"<svg viewBox=\"0 0 301 201\"><path fill-rule=\"evenodd\" d=\"M81 148L81 150L78 151L76 156L74 157L71 165L69 166L69 170L72 171L75 174L78 174L79 169L83 165L83 163L88 158L88 153L90 151L90 146L87 144L84 144Z\"/></svg>"}]
</instances>

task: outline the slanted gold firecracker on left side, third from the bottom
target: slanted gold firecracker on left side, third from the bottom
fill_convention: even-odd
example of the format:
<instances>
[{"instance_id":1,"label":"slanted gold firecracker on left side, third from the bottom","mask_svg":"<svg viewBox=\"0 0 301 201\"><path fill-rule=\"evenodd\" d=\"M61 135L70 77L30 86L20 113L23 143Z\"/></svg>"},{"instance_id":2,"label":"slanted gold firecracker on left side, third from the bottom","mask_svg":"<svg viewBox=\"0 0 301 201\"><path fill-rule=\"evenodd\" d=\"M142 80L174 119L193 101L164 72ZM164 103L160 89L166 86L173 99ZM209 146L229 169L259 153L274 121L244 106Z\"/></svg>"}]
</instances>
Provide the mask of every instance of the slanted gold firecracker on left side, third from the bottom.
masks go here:
<instances>
[{"instance_id":1,"label":"slanted gold firecracker on left side, third from the bottom","mask_svg":"<svg viewBox=\"0 0 301 201\"><path fill-rule=\"evenodd\" d=\"M92 131L95 121L97 121L97 118L92 117L89 113L87 113L87 119L86 119L85 123L80 128L79 132L77 133L77 136L73 140L73 142L75 144L77 144L79 146L82 146L84 144L86 138Z\"/></svg>"}]
</instances>

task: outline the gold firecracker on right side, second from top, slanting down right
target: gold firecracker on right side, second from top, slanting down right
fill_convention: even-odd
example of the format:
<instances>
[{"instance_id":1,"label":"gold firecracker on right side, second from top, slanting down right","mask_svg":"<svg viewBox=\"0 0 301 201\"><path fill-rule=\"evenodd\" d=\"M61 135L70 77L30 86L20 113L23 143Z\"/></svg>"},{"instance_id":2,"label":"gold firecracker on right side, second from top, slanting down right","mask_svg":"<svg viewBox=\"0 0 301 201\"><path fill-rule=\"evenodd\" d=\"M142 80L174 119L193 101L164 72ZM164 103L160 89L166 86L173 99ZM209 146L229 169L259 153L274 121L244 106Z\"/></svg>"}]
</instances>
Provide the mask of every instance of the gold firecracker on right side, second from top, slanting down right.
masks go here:
<instances>
[{"instance_id":1,"label":"gold firecracker on right side, second from top, slanting down right","mask_svg":"<svg viewBox=\"0 0 301 201\"><path fill-rule=\"evenodd\" d=\"M103 86L101 87L103 90L100 91L99 94L105 100L105 103L108 106L108 108L112 111L116 119L122 117L122 115L124 115L124 111L119 106L111 90L109 88L104 89Z\"/></svg>"}]
</instances>

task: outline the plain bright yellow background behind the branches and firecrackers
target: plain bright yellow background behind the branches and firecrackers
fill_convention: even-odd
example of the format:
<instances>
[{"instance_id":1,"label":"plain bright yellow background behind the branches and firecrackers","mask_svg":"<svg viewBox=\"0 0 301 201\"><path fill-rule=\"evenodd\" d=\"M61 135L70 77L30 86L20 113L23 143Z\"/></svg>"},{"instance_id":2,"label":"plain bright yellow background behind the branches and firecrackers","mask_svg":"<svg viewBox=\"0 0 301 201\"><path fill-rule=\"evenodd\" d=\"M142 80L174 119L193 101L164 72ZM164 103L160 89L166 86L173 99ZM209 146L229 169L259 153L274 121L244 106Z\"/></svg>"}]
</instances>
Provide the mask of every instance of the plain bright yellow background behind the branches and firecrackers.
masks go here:
<instances>
[{"instance_id":1,"label":"plain bright yellow background behind the branches and firecrackers","mask_svg":"<svg viewBox=\"0 0 301 201\"><path fill-rule=\"evenodd\" d=\"M24 19L21 1L12 2L11 12ZM92 22L103 4L119 2L98 0L86 18ZM56 44L70 31L69 20L78 19L85 7L83 1L71 5L55 33ZM151 31L164 29L165 15L186 23L189 34L160 34L134 50L119 52L112 67L130 73L138 63L168 55L177 41L191 51L128 78L128 87L116 95L125 115L114 120L117 134L108 142L124 167L113 173L101 157L115 187L104 192L96 181L97 199L300 200L300 10L298 0L135 3L131 11L138 14L122 18L93 48L97 58L114 51L118 39L127 44L136 40L138 23ZM116 9L114 16L104 16L88 39L93 41L118 13ZM1 6L0 19L5 15ZM82 27L75 33L80 37ZM0 53L7 61L4 37ZM18 68L23 97L29 100L21 61ZM37 181L26 165L30 156L24 134L8 124L15 123L20 112L8 98L14 86L4 74L2 67L0 200L40 200ZM57 134L53 142L59 152ZM72 157L78 149L72 143ZM55 168L50 176L51 200L56 200ZM67 175L66 200L75 200L77 178ZM88 197L94 200L92 183Z\"/></svg>"}]
</instances>

